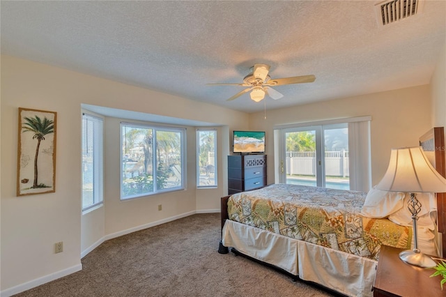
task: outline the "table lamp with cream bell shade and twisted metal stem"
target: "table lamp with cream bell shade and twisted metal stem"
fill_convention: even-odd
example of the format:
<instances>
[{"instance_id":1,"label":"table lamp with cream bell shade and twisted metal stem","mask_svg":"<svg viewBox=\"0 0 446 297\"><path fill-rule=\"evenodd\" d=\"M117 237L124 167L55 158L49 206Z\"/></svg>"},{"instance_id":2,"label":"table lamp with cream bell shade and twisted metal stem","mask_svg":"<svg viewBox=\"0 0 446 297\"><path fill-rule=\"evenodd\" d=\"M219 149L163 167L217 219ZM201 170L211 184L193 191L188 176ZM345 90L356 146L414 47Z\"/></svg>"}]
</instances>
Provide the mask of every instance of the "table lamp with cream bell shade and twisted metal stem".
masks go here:
<instances>
[{"instance_id":1,"label":"table lamp with cream bell shade and twisted metal stem","mask_svg":"<svg viewBox=\"0 0 446 297\"><path fill-rule=\"evenodd\" d=\"M433 168L420 146L395 148L390 153L389 167L383 179L376 185L378 190L409 192L408 210L413 220L413 250L399 253L399 258L408 264L433 267L436 262L418 249L417 220L422 204L417 192L446 192L446 179Z\"/></svg>"}]
</instances>

